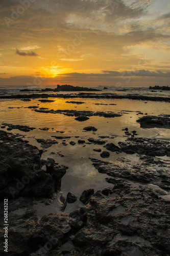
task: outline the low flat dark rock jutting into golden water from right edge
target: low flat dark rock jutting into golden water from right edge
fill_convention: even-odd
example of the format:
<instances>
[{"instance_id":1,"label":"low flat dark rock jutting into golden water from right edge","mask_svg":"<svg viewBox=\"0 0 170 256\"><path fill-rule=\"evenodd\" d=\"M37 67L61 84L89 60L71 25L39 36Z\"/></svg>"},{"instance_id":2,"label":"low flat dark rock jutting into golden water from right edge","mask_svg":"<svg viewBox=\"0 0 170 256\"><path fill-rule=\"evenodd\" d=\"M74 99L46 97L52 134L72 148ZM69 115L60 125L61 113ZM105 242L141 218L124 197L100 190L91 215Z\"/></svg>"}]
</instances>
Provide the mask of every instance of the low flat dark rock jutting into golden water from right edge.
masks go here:
<instances>
[{"instance_id":1,"label":"low flat dark rock jutting into golden water from right edge","mask_svg":"<svg viewBox=\"0 0 170 256\"><path fill-rule=\"evenodd\" d=\"M142 128L161 127L170 129L170 118L168 116L143 116L136 122L139 122Z\"/></svg>"}]
</instances>

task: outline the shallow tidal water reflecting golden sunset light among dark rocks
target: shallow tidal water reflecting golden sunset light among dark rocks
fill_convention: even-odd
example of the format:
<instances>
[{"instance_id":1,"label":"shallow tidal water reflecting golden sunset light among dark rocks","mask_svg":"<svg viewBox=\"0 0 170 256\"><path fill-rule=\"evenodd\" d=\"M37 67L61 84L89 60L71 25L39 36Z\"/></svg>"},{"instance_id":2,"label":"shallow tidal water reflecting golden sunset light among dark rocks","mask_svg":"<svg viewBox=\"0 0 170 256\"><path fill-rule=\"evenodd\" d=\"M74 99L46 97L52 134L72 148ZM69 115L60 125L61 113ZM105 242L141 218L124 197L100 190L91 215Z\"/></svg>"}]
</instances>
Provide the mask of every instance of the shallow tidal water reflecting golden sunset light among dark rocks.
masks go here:
<instances>
[{"instance_id":1,"label":"shallow tidal water reflecting golden sunset light among dark rocks","mask_svg":"<svg viewBox=\"0 0 170 256\"><path fill-rule=\"evenodd\" d=\"M103 93L104 92L106 91L103 91ZM142 93L146 92L142 91ZM62 178L61 190L64 196L66 196L69 191L80 196L85 189L94 188L94 191L96 191L110 185L105 181L105 178L108 176L99 174L98 170L94 168L92 162L89 160L89 157L105 161L115 161L117 157L127 157L129 159L138 160L136 154L126 155L122 153L117 155L115 152L112 152L109 158L103 159L99 152L93 151L93 148L96 147L100 147L102 151L105 150L103 145L78 144L77 141L80 138L88 142L87 139L90 137L103 139L99 136L109 136L109 138L104 138L103 140L106 140L107 143L113 142L117 145L119 141L127 139L125 132L122 131L122 129L126 127L128 127L129 131L135 130L138 137L156 137L165 140L169 140L170 138L169 129L143 129L140 128L140 124L136 122L136 120L145 115L145 113L148 115L169 114L169 102L147 101L148 103L145 103L145 101L142 100L129 99L52 99L55 100L55 102L41 103L39 99L32 99L29 102L21 100L1 100L0 122L1 124L4 122L36 127L35 130L28 133L18 130L12 130L12 133L25 135L30 144L36 145L38 148L41 148L41 144L35 139L54 139L51 136L71 136L70 139L65 139L65 142L68 143L66 146L62 144L62 139L57 139L59 144L52 145L42 154L42 158L44 159L52 157L60 165L64 164L69 167L66 175ZM72 104L66 103L66 101L83 101L85 103ZM96 105L95 103L108 105ZM113 103L116 105L109 105ZM28 106L39 106L39 108L48 108L50 110L111 111L121 113L122 116L114 118L91 116L89 120L79 122L75 120L75 117L69 117L63 114L38 113L32 109L28 109ZM13 107L13 109L9 109L11 107ZM138 112L142 112L143 114L138 114ZM95 126L98 131L86 132L83 130L85 126ZM42 127L48 127L50 130L39 130L39 128ZM6 128L4 129L5 131L7 131ZM79 136L79 138L75 138L75 136ZM76 145L70 145L70 141L75 141ZM52 155L50 154L51 152L55 154ZM59 153L63 154L64 157L61 157Z\"/></svg>"}]
</instances>

